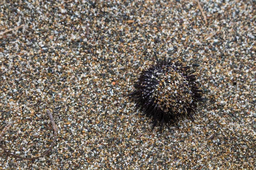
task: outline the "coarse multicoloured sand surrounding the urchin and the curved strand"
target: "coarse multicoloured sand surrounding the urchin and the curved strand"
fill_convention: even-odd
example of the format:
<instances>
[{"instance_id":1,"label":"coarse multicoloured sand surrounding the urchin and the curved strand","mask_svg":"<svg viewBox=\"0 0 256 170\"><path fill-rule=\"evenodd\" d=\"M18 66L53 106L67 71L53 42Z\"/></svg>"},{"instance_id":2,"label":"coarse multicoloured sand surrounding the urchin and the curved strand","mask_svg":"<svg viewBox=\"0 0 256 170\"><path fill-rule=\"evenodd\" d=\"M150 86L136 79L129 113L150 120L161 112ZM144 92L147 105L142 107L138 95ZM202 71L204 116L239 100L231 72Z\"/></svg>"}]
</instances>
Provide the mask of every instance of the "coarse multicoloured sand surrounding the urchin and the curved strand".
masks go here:
<instances>
[{"instance_id":1,"label":"coarse multicoloured sand surrounding the urchin and the curved strand","mask_svg":"<svg viewBox=\"0 0 256 170\"><path fill-rule=\"evenodd\" d=\"M200 7L201 6L201 7ZM4 170L255 170L255 0L1 0ZM201 12L203 11L203 13ZM157 125L127 94L170 57L205 97L193 122Z\"/></svg>"}]
</instances>

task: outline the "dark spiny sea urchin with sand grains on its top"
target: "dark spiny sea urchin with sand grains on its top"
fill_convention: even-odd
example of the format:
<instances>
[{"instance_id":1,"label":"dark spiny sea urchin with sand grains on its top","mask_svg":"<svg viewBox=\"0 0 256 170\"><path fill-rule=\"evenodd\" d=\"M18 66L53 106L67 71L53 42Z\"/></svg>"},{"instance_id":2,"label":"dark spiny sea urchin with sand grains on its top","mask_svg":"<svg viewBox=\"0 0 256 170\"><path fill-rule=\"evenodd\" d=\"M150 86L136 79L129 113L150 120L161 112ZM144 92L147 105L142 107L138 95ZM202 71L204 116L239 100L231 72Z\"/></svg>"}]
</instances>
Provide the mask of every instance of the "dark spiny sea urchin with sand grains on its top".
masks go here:
<instances>
[{"instance_id":1,"label":"dark spiny sea urchin with sand grains on its top","mask_svg":"<svg viewBox=\"0 0 256 170\"><path fill-rule=\"evenodd\" d=\"M164 124L171 125L183 116L195 113L197 102L207 100L202 98L202 91L195 82L195 71L190 66L183 66L179 61L172 62L170 58L159 60L156 53L156 65L142 71L137 82L136 89L131 94L144 114L153 118L152 129L160 124L160 130Z\"/></svg>"}]
</instances>

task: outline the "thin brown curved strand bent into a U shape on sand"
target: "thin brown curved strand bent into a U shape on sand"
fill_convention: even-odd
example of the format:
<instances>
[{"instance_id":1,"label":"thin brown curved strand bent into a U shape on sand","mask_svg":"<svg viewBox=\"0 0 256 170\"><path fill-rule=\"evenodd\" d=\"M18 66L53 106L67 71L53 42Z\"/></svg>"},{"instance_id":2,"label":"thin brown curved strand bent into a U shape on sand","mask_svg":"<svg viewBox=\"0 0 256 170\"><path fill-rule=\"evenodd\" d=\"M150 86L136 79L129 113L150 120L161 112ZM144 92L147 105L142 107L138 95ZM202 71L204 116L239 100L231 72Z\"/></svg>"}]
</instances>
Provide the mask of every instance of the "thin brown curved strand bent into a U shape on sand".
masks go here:
<instances>
[{"instance_id":1,"label":"thin brown curved strand bent into a U shape on sand","mask_svg":"<svg viewBox=\"0 0 256 170\"><path fill-rule=\"evenodd\" d=\"M6 150L6 149L3 147L3 145L2 145L1 138L2 138L3 134L6 132L6 130L8 130L9 127L11 127L11 124L8 124L8 125L3 129L3 131L2 131L1 134L0 134L0 147L3 149L3 152L6 153L6 154L9 155L9 156L13 156L13 157L15 157L15 158L20 158L20 159L26 159L26 160L38 159L38 158L41 158L42 156L45 156L47 153L49 153L49 151L52 150L52 146L55 144L55 141L56 141L56 139L57 139L58 132L57 132L57 128L56 128L55 121L54 121L54 119L53 119L52 113L51 113L49 110L47 110L47 113L48 113L48 116L49 116L49 118L50 118L50 120L51 120L51 123L52 123L52 129L53 129L53 131L54 131L54 139L53 139L53 141L52 141L52 143L51 143L49 149L48 149L45 153L43 153L41 156L37 156L37 157L34 157L34 158L25 158L25 157L17 156L17 155L14 155L14 154L12 154L12 153L7 152L7 150Z\"/></svg>"}]
</instances>

